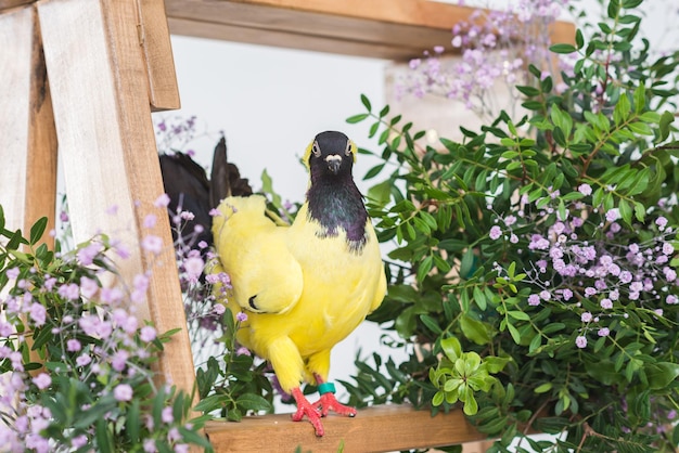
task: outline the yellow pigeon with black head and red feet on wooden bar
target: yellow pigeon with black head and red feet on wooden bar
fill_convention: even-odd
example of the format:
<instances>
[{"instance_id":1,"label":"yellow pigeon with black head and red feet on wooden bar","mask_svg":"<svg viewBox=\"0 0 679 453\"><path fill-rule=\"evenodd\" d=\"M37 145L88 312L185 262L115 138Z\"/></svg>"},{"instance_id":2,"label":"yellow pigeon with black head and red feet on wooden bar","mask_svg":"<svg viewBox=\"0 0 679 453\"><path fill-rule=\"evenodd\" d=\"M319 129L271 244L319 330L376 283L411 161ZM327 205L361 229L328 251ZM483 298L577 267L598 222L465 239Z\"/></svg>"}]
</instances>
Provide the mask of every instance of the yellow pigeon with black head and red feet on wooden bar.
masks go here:
<instances>
[{"instance_id":1,"label":"yellow pigeon with black head and red feet on wooden bar","mask_svg":"<svg viewBox=\"0 0 679 453\"><path fill-rule=\"evenodd\" d=\"M216 271L231 277L234 315L247 314L236 338L271 363L297 403L293 420L306 415L317 436L330 411L356 415L328 381L330 351L386 293L377 237L351 177L356 153L342 132L316 135L304 155L306 199L291 225L270 220L259 195L227 197L213 219ZM305 398L304 381L318 386L318 401Z\"/></svg>"}]
</instances>

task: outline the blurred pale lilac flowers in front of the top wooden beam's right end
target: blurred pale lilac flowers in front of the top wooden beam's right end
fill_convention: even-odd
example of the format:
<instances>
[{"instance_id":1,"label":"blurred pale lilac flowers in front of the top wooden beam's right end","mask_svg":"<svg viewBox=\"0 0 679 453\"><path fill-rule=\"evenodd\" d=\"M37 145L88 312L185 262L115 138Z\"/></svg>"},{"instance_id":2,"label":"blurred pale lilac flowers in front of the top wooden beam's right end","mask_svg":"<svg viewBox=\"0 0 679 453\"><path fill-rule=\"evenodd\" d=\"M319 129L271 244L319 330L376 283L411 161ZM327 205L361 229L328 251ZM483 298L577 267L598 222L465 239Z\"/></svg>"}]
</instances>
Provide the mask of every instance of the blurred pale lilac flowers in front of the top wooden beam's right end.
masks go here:
<instances>
[{"instance_id":1,"label":"blurred pale lilac flowers in front of the top wooden beam's right end","mask_svg":"<svg viewBox=\"0 0 679 453\"><path fill-rule=\"evenodd\" d=\"M410 72L397 86L399 96L427 93L461 102L484 117L498 109L494 89L503 83L510 88L526 79L527 62L543 62L545 74L569 70L567 57L551 68L550 37L545 33L561 14L564 0L521 0L508 10L475 10L467 21L452 27L452 50L460 59L445 59L446 48L425 51L423 59L410 61Z\"/></svg>"}]
</instances>

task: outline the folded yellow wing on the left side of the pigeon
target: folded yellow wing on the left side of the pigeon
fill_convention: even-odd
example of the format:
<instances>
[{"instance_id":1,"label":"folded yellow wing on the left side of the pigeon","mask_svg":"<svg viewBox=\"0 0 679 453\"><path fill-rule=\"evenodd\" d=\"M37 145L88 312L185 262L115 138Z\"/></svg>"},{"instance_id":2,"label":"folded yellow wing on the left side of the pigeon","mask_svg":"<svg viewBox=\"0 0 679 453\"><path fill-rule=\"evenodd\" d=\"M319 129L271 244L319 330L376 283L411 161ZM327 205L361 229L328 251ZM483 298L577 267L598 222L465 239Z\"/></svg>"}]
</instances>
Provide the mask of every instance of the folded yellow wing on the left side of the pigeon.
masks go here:
<instances>
[{"instance_id":1,"label":"folded yellow wing on the left side of the pigeon","mask_svg":"<svg viewBox=\"0 0 679 453\"><path fill-rule=\"evenodd\" d=\"M231 276L233 296L242 308L258 313L285 313L303 290L302 268L287 248L286 226L265 216L259 195L229 197L213 219L215 245Z\"/></svg>"}]
</instances>

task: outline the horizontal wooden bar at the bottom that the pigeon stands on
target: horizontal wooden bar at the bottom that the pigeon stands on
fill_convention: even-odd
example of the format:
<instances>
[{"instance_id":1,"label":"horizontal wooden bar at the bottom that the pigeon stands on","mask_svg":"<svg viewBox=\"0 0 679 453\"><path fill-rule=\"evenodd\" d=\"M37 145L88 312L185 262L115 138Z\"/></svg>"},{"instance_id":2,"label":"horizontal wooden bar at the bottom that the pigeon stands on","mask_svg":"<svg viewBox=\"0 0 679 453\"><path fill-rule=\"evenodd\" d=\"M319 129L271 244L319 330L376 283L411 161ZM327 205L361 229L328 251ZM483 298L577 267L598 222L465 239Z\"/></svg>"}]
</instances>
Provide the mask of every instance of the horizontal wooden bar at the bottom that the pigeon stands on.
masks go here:
<instances>
[{"instance_id":1,"label":"horizontal wooden bar at the bottom that the pigeon stands on","mask_svg":"<svg viewBox=\"0 0 679 453\"><path fill-rule=\"evenodd\" d=\"M206 433L217 453L227 452L384 452L451 445L486 439L460 410L432 417L428 410L380 405L355 418L323 418L325 436L316 437L308 422L290 414L245 417L241 423L208 422Z\"/></svg>"}]
</instances>

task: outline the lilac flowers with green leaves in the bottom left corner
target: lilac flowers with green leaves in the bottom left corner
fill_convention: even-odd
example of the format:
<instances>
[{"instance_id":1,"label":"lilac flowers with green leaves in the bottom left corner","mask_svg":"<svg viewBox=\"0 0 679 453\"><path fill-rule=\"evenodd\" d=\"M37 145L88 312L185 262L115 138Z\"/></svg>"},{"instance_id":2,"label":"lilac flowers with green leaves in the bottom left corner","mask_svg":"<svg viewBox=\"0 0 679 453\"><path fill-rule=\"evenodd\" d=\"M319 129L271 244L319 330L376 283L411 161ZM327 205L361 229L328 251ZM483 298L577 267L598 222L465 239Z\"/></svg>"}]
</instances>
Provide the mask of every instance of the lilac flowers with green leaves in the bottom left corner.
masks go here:
<instances>
[{"instance_id":1,"label":"lilac flowers with green leaves in the bottom left corner","mask_svg":"<svg viewBox=\"0 0 679 453\"><path fill-rule=\"evenodd\" d=\"M137 313L151 272L129 285L113 277L114 259L130 253L103 234L71 251L49 250L38 245L46 220L30 240L14 234L0 246L3 451L74 451L102 442L144 452L206 446L194 432L202 422L187 422L190 397L154 380L152 364L170 334ZM154 222L150 216L145 225ZM158 241L148 234L142 248L153 256Z\"/></svg>"}]
</instances>

